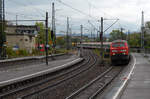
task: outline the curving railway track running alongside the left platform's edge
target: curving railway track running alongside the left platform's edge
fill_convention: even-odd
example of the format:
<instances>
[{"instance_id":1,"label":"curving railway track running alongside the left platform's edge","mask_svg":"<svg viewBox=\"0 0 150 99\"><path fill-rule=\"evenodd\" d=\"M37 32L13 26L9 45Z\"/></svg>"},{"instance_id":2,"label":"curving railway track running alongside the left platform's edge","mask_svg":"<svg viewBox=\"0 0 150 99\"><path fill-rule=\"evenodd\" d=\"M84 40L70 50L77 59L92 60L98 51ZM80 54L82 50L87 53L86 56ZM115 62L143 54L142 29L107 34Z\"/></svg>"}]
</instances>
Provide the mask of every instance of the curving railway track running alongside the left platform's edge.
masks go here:
<instances>
[{"instance_id":1,"label":"curving railway track running alongside the left platform's edge","mask_svg":"<svg viewBox=\"0 0 150 99\"><path fill-rule=\"evenodd\" d=\"M39 97L37 94L43 92L46 89L53 88L71 78L74 78L80 73L83 73L84 71L90 69L92 65L96 63L96 59L94 58L94 56L92 56L91 53L87 54L85 52L84 57L85 57L85 61L82 64L78 64L77 66L74 66L73 68L68 68L67 70L62 70L61 73L56 72L53 74L47 74L26 81L18 82L16 84L2 87L0 90L0 98L2 99L29 98L30 99L33 96Z\"/></svg>"}]
</instances>

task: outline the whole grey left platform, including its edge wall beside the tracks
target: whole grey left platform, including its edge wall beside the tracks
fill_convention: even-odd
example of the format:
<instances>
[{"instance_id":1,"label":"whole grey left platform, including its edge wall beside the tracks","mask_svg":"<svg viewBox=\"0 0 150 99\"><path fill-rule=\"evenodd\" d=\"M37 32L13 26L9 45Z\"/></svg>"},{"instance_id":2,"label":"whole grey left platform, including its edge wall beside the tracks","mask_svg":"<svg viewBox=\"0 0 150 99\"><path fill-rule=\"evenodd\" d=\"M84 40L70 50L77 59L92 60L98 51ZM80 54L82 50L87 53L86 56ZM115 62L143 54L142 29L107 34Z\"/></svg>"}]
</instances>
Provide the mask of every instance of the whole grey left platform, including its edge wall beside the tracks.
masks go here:
<instances>
[{"instance_id":1,"label":"whole grey left platform, including its edge wall beside the tracks","mask_svg":"<svg viewBox=\"0 0 150 99\"><path fill-rule=\"evenodd\" d=\"M55 72L60 69L72 66L82 60L82 58L79 58L76 55L72 55L67 59L49 61L49 65L46 65L46 63L41 63L31 66L20 66L13 69L3 70L0 71L0 87L35 76Z\"/></svg>"}]
</instances>

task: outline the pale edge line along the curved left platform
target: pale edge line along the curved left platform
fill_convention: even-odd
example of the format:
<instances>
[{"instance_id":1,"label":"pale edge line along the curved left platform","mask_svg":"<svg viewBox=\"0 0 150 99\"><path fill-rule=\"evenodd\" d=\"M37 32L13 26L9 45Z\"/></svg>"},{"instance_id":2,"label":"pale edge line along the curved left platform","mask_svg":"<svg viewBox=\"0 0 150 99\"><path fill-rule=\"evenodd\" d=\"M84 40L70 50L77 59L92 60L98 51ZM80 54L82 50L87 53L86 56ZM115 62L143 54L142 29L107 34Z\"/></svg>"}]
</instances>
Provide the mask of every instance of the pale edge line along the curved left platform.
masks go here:
<instances>
[{"instance_id":1,"label":"pale edge line along the curved left platform","mask_svg":"<svg viewBox=\"0 0 150 99\"><path fill-rule=\"evenodd\" d=\"M50 69L47 69L47 70L44 70L44 71L40 71L40 72L37 72L37 73L34 73L34 74L30 74L30 75L26 75L26 76L14 78L14 79L2 81L2 82L0 82L0 85L1 85L1 84L5 84L5 83L8 83L8 82L12 82L12 81L17 81L17 80L20 80L20 79L23 79L23 78L35 76L35 75L38 75L38 74L46 73L46 72L48 72L48 71L56 70L56 69L58 69L58 68L60 68L60 67L64 67L64 66L66 67L67 65L69 65L69 64L71 64L71 63L73 63L73 62L75 62L75 61L78 61L78 60L80 60L80 59L81 59L81 58L78 58L78 59L76 59L76 60L74 60L74 61L71 61L71 62L69 62L69 63L66 63L66 64L64 64L64 65L57 66L57 67L54 67L54 68L50 68Z\"/></svg>"}]
</instances>

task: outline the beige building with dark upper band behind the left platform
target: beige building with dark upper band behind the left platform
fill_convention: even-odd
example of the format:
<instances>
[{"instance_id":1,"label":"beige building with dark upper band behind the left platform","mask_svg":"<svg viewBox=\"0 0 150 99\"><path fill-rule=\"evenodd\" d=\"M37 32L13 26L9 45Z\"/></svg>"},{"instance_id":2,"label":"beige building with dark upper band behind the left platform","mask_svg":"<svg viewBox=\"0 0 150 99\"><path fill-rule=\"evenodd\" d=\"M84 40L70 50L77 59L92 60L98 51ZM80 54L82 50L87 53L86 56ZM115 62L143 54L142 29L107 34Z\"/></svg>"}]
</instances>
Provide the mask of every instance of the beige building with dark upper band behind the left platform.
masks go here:
<instances>
[{"instance_id":1,"label":"beige building with dark upper band behind the left platform","mask_svg":"<svg viewBox=\"0 0 150 99\"><path fill-rule=\"evenodd\" d=\"M37 35L37 27L35 25L8 25L5 32L7 46L14 49L26 49L30 53L32 49L35 49L35 37Z\"/></svg>"}]
</instances>

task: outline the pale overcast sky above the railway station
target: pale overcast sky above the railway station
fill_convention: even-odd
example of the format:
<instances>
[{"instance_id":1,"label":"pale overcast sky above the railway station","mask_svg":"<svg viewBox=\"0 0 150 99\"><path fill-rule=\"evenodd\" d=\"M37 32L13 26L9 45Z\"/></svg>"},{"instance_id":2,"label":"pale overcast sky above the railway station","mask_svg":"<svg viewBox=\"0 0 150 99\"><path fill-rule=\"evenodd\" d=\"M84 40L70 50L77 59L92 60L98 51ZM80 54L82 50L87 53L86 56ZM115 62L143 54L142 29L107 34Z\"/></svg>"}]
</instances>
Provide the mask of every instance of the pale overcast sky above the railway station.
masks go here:
<instances>
[{"instance_id":1,"label":"pale overcast sky above the railway station","mask_svg":"<svg viewBox=\"0 0 150 99\"><path fill-rule=\"evenodd\" d=\"M82 13L59 1L82 11ZM145 21L150 20L149 0L5 0L5 2L6 19L16 19L16 15L18 15L18 19L45 19L45 12L48 11L49 26L51 23L51 3L55 2L57 32L66 31L67 17L70 18L73 32L79 32L81 24L91 30L88 20L97 28L100 24L98 20L101 17L119 19L107 33L121 27L125 30L140 31L142 10L145 14ZM105 20L104 28L109 27L114 21Z\"/></svg>"}]
</instances>

